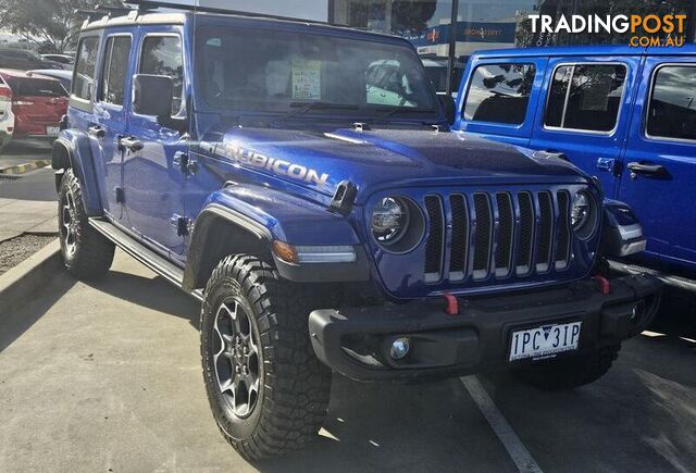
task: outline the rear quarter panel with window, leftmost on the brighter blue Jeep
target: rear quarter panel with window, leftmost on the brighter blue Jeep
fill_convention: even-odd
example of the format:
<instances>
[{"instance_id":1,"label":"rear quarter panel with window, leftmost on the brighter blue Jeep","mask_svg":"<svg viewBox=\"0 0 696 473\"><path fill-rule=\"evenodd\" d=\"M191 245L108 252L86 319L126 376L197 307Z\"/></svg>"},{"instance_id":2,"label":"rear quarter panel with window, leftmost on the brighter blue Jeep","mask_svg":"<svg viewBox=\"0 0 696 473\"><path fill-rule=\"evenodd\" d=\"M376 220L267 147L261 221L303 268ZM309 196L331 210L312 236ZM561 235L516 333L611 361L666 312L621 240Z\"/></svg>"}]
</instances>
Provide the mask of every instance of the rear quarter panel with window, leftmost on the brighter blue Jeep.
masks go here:
<instances>
[{"instance_id":1,"label":"rear quarter panel with window, leftmost on the brighter blue Jeep","mask_svg":"<svg viewBox=\"0 0 696 473\"><path fill-rule=\"evenodd\" d=\"M455 127L529 146L545 67L546 58L474 59Z\"/></svg>"}]
</instances>

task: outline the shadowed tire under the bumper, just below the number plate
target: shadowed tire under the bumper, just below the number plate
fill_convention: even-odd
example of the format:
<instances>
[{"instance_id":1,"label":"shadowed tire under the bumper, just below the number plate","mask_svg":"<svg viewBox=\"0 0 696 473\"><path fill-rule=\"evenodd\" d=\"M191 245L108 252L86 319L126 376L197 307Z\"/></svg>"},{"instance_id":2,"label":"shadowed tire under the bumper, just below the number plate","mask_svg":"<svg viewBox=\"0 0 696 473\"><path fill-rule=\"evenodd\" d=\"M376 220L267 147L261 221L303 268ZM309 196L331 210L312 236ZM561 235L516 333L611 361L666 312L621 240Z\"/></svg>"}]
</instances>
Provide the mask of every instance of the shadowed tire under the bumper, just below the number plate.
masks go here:
<instances>
[{"instance_id":1,"label":"shadowed tire under the bumper, just below the number plate","mask_svg":"<svg viewBox=\"0 0 696 473\"><path fill-rule=\"evenodd\" d=\"M544 390L573 389L604 376L619 357L621 344L608 345L591 353L549 360L515 371L525 383Z\"/></svg>"}]
</instances>

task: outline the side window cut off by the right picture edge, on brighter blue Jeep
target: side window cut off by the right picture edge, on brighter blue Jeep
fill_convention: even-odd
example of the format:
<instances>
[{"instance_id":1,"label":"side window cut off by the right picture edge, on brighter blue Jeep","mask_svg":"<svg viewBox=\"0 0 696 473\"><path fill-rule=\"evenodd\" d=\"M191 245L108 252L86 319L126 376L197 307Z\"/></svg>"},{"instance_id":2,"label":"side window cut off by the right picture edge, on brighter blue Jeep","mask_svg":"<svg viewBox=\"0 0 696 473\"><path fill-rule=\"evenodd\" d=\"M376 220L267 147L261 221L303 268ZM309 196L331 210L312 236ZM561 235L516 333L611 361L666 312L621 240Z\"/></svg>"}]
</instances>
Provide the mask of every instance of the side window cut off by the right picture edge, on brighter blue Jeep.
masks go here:
<instances>
[{"instance_id":1,"label":"side window cut off by the right picture edge, on brighter blue Jeep","mask_svg":"<svg viewBox=\"0 0 696 473\"><path fill-rule=\"evenodd\" d=\"M696 64L657 71L646 130L651 137L696 140Z\"/></svg>"}]
</instances>

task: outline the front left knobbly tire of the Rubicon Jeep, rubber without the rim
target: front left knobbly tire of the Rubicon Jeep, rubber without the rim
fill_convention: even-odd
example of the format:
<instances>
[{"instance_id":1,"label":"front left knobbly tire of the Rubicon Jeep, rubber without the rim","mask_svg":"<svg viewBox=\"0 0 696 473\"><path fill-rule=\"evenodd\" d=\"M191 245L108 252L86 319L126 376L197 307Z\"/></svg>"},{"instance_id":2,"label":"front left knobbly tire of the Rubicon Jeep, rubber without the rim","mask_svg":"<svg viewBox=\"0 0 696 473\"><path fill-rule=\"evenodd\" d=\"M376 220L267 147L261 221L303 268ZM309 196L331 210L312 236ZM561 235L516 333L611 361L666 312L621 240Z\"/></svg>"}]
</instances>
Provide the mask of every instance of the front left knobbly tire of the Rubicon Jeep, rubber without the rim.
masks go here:
<instances>
[{"instance_id":1,"label":"front left knobbly tire of the Rubicon Jeep, rubber without the rim","mask_svg":"<svg viewBox=\"0 0 696 473\"><path fill-rule=\"evenodd\" d=\"M260 341L260 393L246 419L225 407L213 358L215 320L231 297L247 312ZM248 460L302 447L316 437L326 414L331 371L311 347L307 321L315 309L312 299L306 290L282 281L271 264L246 254L225 258L208 281L200 319L208 400L225 439Z\"/></svg>"}]
</instances>

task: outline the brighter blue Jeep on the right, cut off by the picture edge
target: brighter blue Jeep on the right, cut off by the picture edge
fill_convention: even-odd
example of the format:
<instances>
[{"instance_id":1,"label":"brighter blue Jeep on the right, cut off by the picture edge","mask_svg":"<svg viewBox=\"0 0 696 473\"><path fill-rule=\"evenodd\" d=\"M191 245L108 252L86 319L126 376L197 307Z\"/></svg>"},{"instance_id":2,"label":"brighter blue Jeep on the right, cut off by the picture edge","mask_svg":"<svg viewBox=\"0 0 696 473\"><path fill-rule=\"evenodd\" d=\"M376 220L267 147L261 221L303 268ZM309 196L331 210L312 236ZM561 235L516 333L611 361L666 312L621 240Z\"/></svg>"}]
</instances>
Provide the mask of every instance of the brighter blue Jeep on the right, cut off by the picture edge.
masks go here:
<instances>
[{"instance_id":1,"label":"brighter blue Jeep on the right, cut off by the picture edge","mask_svg":"<svg viewBox=\"0 0 696 473\"><path fill-rule=\"evenodd\" d=\"M562 153L596 176L644 225L647 250L632 261L696 287L671 277L696 275L696 45L480 52L458 111L457 129Z\"/></svg>"}]
</instances>

